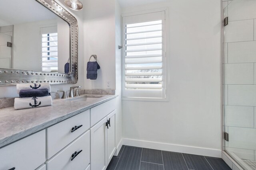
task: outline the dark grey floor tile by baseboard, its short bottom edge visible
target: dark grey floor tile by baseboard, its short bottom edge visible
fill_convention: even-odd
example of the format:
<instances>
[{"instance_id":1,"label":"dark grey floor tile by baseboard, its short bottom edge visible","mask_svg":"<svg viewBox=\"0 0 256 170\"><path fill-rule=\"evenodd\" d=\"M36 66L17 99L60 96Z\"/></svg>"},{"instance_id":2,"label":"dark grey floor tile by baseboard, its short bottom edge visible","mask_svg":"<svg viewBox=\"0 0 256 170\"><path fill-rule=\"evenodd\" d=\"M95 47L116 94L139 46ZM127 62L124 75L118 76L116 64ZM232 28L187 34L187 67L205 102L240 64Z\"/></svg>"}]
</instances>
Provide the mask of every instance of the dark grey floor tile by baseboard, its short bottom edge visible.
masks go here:
<instances>
[{"instance_id":1,"label":"dark grey floor tile by baseboard, its short bottom edge visible","mask_svg":"<svg viewBox=\"0 0 256 170\"><path fill-rule=\"evenodd\" d=\"M143 148L141 161L155 164L163 164L162 152L161 150Z\"/></svg>"}]
</instances>

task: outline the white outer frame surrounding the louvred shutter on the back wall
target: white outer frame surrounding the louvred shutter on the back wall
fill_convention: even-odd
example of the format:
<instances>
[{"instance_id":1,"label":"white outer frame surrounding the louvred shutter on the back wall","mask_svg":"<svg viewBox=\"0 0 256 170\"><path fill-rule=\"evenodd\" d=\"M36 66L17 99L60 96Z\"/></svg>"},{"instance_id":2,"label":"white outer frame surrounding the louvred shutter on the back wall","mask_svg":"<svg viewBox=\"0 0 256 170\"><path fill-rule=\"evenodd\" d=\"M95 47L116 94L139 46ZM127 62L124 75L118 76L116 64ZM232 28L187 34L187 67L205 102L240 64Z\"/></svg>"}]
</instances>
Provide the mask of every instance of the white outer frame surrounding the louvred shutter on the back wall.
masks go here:
<instances>
[{"instance_id":1,"label":"white outer frame surrounding the louvred shutter on the back wall","mask_svg":"<svg viewBox=\"0 0 256 170\"><path fill-rule=\"evenodd\" d=\"M126 23L124 23L124 17L127 16L136 16L136 15L142 15L142 14L150 14L150 13L156 13L156 12L165 12L164 16L164 25L162 27L163 35L162 35L162 97L156 98L154 97L154 91L150 90L129 90L129 92L125 89L125 50L126 48L122 48L122 100L134 100L134 101L156 101L156 102L168 102L169 101L169 13L168 8L160 8L160 9L154 9L154 10L146 10L141 12L132 12L127 14L122 14L122 43L125 44L125 26ZM127 95L130 93L129 95ZM134 94L137 94L137 96L134 96ZM138 97L140 96L141 97Z\"/></svg>"}]
</instances>

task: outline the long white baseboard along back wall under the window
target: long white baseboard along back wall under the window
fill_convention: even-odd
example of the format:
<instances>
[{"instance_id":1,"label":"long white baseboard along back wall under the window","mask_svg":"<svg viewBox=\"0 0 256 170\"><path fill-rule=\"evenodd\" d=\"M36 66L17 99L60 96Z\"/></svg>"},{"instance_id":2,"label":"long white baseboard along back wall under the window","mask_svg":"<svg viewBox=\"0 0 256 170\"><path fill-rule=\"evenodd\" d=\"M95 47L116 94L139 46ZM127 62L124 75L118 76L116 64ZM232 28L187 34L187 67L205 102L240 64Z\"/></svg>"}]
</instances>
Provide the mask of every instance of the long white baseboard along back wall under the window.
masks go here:
<instances>
[{"instance_id":1,"label":"long white baseboard along back wall under the window","mask_svg":"<svg viewBox=\"0 0 256 170\"><path fill-rule=\"evenodd\" d=\"M180 153L187 153L187 154L211 156L216 158L222 157L222 151L218 149L190 147L190 146L184 146L184 145L173 145L169 143L157 143L157 142L140 141L140 140L134 140L134 139L122 139L122 145L142 147L142 148L148 148L148 149L166 150L170 152L180 152Z\"/></svg>"}]
</instances>

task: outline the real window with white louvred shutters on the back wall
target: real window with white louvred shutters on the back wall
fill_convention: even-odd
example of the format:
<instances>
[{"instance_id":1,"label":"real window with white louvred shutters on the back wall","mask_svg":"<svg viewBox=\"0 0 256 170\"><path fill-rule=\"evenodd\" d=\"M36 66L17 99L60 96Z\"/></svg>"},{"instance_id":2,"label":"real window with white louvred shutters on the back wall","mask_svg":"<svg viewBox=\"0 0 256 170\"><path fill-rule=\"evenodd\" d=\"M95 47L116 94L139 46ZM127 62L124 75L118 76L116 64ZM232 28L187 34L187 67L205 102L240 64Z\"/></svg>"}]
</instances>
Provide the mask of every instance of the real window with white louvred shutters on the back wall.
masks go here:
<instances>
[{"instance_id":1,"label":"real window with white louvred shutters on the back wall","mask_svg":"<svg viewBox=\"0 0 256 170\"><path fill-rule=\"evenodd\" d=\"M166 98L165 11L122 17L122 97Z\"/></svg>"}]
</instances>

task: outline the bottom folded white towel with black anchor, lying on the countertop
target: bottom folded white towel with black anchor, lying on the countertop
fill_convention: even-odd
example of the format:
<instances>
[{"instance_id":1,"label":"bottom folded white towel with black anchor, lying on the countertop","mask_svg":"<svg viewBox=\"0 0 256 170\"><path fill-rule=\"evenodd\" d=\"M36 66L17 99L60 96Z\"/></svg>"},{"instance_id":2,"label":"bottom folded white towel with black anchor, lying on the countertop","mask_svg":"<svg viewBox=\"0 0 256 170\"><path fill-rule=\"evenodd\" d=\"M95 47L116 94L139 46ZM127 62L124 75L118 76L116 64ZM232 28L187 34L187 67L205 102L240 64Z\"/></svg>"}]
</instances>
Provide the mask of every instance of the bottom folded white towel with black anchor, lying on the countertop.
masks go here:
<instances>
[{"instance_id":1,"label":"bottom folded white towel with black anchor, lying on the countertop","mask_svg":"<svg viewBox=\"0 0 256 170\"><path fill-rule=\"evenodd\" d=\"M52 96L14 99L14 109L16 110L43 106L52 106Z\"/></svg>"}]
</instances>

